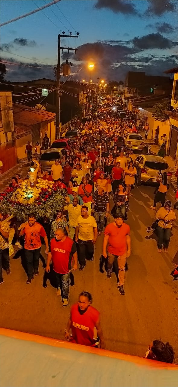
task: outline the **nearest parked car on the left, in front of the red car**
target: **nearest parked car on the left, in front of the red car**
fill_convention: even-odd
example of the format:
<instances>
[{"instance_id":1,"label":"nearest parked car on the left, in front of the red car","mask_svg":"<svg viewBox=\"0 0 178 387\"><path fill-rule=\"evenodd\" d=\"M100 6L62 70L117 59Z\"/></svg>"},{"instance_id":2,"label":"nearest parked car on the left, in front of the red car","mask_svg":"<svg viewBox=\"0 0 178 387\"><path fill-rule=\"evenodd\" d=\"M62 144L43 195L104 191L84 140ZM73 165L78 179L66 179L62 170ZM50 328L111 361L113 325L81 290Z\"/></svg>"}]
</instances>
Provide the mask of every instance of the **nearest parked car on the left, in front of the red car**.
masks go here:
<instances>
[{"instance_id":1,"label":"nearest parked car on the left, in front of the red car","mask_svg":"<svg viewBox=\"0 0 178 387\"><path fill-rule=\"evenodd\" d=\"M41 154L39 162L41 163L43 170L51 170L51 166L55 163L56 159L61 159L63 154L66 154L66 149L56 148L56 149L47 149Z\"/></svg>"}]
</instances>

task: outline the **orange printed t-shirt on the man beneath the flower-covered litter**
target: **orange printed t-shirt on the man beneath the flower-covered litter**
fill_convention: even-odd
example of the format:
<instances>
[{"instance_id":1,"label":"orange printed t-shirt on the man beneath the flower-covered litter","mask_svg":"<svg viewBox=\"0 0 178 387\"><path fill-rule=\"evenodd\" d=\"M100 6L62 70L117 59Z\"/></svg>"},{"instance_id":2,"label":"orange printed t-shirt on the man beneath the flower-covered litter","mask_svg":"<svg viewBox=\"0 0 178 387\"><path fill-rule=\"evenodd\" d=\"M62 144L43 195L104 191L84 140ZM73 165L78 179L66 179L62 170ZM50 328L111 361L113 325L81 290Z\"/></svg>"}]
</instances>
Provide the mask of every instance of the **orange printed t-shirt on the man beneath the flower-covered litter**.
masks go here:
<instances>
[{"instance_id":1,"label":"orange printed t-shirt on the man beneath the flower-covered litter","mask_svg":"<svg viewBox=\"0 0 178 387\"><path fill-rule=\"evenodd\" d=\"M25 234L25 249L35 250L41 247L40 236L46 236L46 231L40 223L35 222L34 226L27 224L23 230Z\"/></svg>"}]
</instances>

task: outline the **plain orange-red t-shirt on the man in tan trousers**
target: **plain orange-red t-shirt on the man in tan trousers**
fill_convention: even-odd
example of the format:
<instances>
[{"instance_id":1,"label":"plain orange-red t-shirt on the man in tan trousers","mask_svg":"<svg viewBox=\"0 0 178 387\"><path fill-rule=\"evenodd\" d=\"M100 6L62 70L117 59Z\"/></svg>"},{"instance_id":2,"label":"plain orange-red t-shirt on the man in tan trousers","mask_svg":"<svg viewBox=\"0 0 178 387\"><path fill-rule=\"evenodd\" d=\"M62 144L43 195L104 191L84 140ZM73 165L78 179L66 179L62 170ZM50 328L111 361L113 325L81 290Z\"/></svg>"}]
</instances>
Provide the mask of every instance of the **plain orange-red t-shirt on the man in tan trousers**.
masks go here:
<instances>
[{"instance_id":1,"label":"plain orange-red t-shirt on the man in tan trousers","mask_svg":"<svg viewBox=\"0 0 178 387\"><path fill-rule=\"evenodd\" d=\"M127 251L126 235L130 235L131 229L126 223L122 223L121 227L115 226L115 223L110 223L106 226L104 235L109 235L108 238L108 253L113 255L124 255Z\"/></svg>"}]
</instances>

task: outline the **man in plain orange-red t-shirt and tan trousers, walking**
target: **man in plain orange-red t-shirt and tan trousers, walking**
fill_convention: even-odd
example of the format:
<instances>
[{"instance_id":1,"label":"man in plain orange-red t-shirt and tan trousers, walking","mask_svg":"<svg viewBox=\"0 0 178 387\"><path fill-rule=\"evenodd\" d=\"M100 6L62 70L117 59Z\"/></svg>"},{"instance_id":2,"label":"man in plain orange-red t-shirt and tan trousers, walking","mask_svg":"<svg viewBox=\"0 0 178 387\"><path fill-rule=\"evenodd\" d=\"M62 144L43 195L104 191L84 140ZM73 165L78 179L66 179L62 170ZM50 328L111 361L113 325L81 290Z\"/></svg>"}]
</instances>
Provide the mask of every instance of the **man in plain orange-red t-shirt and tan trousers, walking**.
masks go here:
<instances>
[{"instance_id":1,"label":"man in plain orange-red t-shirt and tan trousers, walking","mask_svg":"<svg viewBox=\"0 0 178 387\"><path fill-rule=\"evenodd\" d=\"M131 255L130 227L124 223L123 214L114 214L114 222L106 226L103 240L103 257L108 257L107 278L111 277L115 259L119 268L118 289L124 295L124 276L126 258ZM107 251L106 251L107 249Z\"/></svg>"}]
</instances>

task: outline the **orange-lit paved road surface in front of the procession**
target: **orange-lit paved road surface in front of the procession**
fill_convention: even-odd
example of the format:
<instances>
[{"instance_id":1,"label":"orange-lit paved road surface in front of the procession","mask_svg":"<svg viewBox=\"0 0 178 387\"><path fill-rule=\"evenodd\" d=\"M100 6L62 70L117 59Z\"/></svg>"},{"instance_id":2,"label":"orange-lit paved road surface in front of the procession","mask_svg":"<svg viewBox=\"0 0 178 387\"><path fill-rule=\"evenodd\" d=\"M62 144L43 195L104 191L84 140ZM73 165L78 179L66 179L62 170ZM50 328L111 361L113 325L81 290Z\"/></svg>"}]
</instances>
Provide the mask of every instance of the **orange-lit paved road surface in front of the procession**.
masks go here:
<instances>
[{"instance_id":1,"label":"orange-lit paved road surface in front of the procession","mask_svg":"<svg viewBox=\"0 0 178 387\"><path fill-rule=\"evenodd\" d=\"M87 262L83 272L75 272L70 305L77 301L80 291L92 293L93 306L101 312L107 349L144 356L153 339L162 339L173 345L178 362L178 282L170 276L178 245L178 222L168 254L159 254L156 240L146 233L154 219L154 211L149 209L154 188L141 186L132 192L128 215L132 254L125 275L125 296L117 290L115 274L107 279L99 270L102 235L96 243L94 262ZM30 285L25 284L27 276L20 257L11 259L11 270L10 276L4 274L5 282L0 287L0 326L64 339L70 307L62 306L49 281L47 288L42 286L42 262L39 276Z\"/></svg>"}]
</instances>

